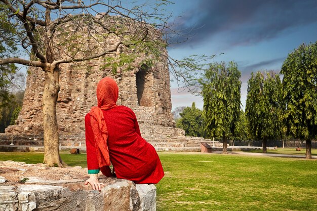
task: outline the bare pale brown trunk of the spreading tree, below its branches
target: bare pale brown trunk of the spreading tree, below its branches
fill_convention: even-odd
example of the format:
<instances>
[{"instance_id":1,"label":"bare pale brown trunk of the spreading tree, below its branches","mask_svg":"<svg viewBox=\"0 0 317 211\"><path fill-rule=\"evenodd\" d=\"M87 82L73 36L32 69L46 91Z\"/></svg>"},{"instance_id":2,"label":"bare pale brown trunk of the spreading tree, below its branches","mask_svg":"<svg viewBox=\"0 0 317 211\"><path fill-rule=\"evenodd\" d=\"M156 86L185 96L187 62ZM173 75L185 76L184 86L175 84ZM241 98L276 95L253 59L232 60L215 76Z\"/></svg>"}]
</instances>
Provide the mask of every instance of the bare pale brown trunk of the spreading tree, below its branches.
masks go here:
<instances>
[{"instance_id":1,"label":"bare pale brown trunk of the spreading tree, below its branches","mask_svg":"<svg viewBox=\"0 0 317 211\"><path fill-rule=\"evenodd\" d=\"M45 69L45 87L43 93L44 161L49 166L63 167L58 149L58 125L56 119L56 101L59 92L59 67L48 64Z\"/></svg>"}]
</instances>

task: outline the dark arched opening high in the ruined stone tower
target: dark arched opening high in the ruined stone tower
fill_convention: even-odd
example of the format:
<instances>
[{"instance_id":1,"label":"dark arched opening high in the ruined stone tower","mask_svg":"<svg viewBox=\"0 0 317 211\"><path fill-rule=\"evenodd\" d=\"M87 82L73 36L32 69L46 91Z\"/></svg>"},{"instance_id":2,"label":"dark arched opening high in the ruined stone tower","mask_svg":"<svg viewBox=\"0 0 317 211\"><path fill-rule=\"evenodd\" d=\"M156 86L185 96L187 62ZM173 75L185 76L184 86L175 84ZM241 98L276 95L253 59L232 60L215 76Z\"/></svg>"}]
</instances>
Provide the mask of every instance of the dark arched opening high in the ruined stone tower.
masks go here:
<instances>
[{"instance_id":1,"label":"dark arched opening high in the ruined stone tower","mask_svg":"<svg viewBox=\"0 0 317 211\"><path fill-rule=\"evenodd\" d=\"M152 80L149 68L142 65L136 73L137 96L139 106L152 106Z\"/></svg>"}]
</instances>

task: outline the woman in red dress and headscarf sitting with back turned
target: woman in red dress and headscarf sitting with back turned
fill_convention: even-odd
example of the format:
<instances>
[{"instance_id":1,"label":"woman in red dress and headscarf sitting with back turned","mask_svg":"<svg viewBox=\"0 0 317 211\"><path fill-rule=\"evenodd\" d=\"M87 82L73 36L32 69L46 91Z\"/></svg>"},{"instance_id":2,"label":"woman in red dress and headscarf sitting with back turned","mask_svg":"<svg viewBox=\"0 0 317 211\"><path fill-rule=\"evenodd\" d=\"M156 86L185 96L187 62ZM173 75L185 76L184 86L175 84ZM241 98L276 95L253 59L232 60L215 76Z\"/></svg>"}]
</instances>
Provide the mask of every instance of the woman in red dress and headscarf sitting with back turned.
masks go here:
<instances>
[{"instance_id":1,"label":"woman in red dress and headscarf sitting with back turned","mask_svg":"<svg viewBox=\"0 0 317 211\"><path fill-rule=\"evenodd\" d=\"M101 79L97 86L98 107L92 107L85 116L90 176L85 185L90 184L94 190L101 190L104 185L98 181L99 171L107 177L116 176L137 184L156 184L164 176L154 147L141 137L134 112L117 106L117 98L116 82L109 77Z\"/></svg>"}]
</instances>

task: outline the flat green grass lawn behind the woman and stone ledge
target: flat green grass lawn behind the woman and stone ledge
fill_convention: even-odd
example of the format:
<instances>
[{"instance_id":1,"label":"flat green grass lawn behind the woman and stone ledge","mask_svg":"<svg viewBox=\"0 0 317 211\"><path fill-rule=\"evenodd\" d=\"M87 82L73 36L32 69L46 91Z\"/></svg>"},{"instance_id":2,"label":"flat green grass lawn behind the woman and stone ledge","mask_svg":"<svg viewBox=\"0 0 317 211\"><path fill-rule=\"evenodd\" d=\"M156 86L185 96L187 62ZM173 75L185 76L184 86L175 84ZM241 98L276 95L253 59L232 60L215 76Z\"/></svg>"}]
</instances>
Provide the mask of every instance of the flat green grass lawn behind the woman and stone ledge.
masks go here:
<instances>
[{"instance_id":1,"label":"flat green grass lawn behind the woman and stone ledge","mask_svg":"<svg viewBox=\"0 0 317 211\"><path fill-rule=\"evenodd\" d=\"M157 211L317 210L317 159L159 153L165 177ZM61 154L86 166L86 154ZM42 162L42 153L0 153L0 160Z\"/></svg>"}]
</instances>

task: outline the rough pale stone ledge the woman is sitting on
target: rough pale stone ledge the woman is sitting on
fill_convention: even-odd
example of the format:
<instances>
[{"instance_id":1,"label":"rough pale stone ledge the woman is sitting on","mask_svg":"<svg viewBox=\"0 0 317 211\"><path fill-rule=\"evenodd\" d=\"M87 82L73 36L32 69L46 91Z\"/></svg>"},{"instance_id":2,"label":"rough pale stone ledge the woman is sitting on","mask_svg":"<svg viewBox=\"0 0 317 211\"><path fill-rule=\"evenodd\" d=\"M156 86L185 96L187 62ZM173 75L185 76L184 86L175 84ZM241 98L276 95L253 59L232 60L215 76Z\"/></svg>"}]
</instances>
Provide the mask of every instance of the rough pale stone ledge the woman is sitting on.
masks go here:
<instances>
[{"instance_id":1,"label":"rough pale stone ledge the woman is sitting on","mask_svg":"<svg viewBox=\"0 0 317 211\"><path fill-rule=\"evenodd\" d=\"M1 211L155 210L154 185L100 177L106 186L99 192L84 186L87 168L56 168L13 161L0 162L0 167L3 174L11 175L5 185L0 185ZM65 176L71 179L63 179ZM29 180L21 184L18 178Z\"/></svg>"}]
</instances>

